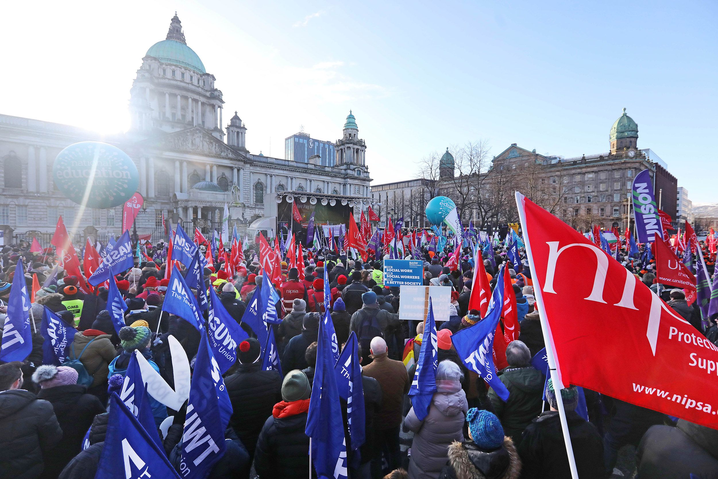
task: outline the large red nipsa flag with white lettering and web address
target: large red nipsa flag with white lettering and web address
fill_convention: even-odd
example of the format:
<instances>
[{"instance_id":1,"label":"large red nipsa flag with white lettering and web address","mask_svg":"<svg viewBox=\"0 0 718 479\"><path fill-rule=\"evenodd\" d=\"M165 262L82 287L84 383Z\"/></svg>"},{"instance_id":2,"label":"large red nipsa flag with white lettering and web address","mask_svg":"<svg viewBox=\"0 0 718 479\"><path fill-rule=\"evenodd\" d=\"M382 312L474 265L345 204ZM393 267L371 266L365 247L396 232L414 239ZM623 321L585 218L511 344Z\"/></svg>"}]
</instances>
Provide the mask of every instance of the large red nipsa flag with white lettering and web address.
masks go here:
<instances>
[{"instance_id":1,"label":"large red nipsa flag with white lettering and web address","mask_svg":"<svg viewBox=\"0 0 718 479\"><path fill-rule=\"evenodd\" d=\"M718 348L615 259L516 197L561 382L718 429Z\"/></svg>"}]
</instances>

